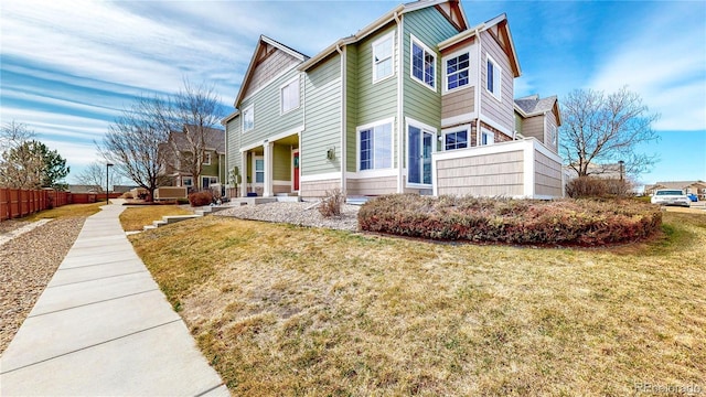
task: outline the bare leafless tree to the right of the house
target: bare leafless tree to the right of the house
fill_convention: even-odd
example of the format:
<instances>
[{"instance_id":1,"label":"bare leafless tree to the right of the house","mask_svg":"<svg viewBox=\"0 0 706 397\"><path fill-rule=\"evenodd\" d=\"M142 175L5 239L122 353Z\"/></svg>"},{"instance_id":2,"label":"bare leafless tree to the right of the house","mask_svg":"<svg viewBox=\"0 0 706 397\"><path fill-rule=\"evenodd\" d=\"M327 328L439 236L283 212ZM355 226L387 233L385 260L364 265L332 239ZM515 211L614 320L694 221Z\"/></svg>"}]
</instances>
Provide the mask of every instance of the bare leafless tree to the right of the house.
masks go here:
<instances>
[{"instance_id":1,"label":"bare leafless tree to the right of the house","mask_svg":"<svg viewBox=\"0 0 706 397\"><path fill-rule=\"evenodd\" d=\"M606 172L605 164L619 161L625 174L638 175L657 161L635 150L639 143L659 139L652 130L659 118L627 87L609 95L576 89L561 101L564 160L579 176Z\"/></svg>"}]
</instances>

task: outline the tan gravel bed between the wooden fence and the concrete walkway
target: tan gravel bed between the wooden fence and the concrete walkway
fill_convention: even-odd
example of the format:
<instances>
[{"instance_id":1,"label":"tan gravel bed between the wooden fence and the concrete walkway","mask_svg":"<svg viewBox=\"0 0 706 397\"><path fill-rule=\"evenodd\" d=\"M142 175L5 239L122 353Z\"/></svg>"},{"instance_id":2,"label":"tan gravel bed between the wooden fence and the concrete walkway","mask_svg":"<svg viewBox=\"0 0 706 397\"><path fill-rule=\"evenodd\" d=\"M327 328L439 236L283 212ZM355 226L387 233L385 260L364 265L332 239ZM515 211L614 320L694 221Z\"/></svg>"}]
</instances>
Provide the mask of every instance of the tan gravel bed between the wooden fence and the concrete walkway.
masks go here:
<instances>
[{"instance_id":1,"label":"tan gravel bed between the wooden fence and the concrete walkway","mask_svg":"<svg viewBox=\"0 0 706 397\"><path fill-rule=\"evenodd\" d=\"M0 353L32 311L85 219L55 219L0 247Z\"/></svg>"}]
</instances>

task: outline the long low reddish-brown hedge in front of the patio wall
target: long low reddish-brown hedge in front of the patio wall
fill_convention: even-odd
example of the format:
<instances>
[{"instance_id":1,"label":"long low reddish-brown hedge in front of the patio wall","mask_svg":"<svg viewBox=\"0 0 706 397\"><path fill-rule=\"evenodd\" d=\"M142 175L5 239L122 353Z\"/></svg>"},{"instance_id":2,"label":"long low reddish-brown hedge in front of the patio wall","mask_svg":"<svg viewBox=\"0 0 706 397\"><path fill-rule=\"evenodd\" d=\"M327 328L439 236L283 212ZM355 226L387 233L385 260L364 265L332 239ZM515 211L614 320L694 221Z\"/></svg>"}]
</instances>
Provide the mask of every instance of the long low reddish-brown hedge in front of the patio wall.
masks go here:
<instances>
[{"instance_id":1,"label":"long low reddish-brown hedge in front of the patio wall","mask_svg":"<svg viewBox=\"0 0 706 397\"><path fill-rule=\"evenodd\" d=\"M394 194L361 207L367 232L437 240L597 246L634 242L662 224L634 200L510 200Z\"/></svg>"}]
</instances>

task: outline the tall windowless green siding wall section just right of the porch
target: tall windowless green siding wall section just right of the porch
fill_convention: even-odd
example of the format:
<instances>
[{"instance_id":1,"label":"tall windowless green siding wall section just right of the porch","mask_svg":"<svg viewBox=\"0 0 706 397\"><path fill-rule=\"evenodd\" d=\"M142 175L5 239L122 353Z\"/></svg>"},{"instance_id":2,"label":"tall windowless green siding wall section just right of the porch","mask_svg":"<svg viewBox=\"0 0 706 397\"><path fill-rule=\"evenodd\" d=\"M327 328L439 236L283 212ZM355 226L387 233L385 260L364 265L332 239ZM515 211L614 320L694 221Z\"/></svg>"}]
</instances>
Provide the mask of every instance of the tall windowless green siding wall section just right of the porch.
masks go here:
<instances>
[{"instance_id":1,"label":"tall windowless green siding wall section just right of the porch","mask_svg":"<svg viewBox=\"0 0 706 397\"><path fill-rule=\"evenodd\" d=\"M332 55L306 77L307 126L301 133L301 174L341 171L341 55ZM335 148L335 159L327 151Z\"/></svg>"}]
</instances>

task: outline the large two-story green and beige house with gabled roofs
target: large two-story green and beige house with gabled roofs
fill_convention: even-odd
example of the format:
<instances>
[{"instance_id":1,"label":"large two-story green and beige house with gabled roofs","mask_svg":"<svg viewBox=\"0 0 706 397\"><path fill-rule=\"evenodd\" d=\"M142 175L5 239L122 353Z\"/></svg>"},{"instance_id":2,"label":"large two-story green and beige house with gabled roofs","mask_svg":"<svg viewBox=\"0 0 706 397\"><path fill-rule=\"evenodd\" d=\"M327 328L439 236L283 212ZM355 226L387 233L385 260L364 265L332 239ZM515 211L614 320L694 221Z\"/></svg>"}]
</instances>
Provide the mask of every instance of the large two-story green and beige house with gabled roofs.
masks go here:
<instances>
[{"instance_id":1,"label":"large two-story green and beige house with gabled roofs","mask_svg":"<svg viewBox=\"0 0 706 397\"><path fill-rule=\"evenodd\" d=\"M399 6L309 57L260 36L223 120L242 196L563 195L556 97L513 100L504 14Z\"/></svg>"}]
</instances>

